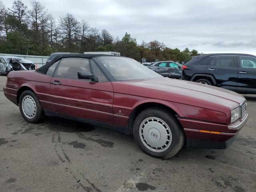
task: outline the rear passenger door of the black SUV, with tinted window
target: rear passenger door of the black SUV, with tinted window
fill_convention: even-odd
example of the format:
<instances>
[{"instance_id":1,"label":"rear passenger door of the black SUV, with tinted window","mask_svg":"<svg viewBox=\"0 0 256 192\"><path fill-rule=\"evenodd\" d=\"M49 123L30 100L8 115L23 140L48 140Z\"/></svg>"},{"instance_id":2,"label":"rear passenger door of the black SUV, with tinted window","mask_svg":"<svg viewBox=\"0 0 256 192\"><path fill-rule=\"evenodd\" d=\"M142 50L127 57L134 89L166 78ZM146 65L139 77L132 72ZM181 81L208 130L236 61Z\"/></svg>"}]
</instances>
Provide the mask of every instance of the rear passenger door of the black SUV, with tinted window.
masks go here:
<instances>
[{"instance_id":1,"label":"rear passenger door of the black SUV, with tinted window","mask_svg":"<svg viewBox=\"0 0 256 192\"><path fill-rule=\"evenodd\" d=\"M237 90L238 72L236 56L210 56L206 74L212 75L216 86L232 91Z\"/></svg>"}]
</instances>

